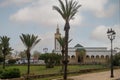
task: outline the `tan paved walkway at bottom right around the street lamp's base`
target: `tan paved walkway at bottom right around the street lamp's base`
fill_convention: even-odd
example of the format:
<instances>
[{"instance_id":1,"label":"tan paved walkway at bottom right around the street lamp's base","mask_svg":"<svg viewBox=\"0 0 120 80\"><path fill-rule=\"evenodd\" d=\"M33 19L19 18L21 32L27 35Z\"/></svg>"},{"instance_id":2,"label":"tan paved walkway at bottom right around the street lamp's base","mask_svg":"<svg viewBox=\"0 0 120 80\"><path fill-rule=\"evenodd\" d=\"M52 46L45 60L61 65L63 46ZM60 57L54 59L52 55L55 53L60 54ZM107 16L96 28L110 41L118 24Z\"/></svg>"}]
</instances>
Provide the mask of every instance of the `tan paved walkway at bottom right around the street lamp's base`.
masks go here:
<instances>
[{"instance_id":1,"label":"tan paved walkway at bottom right around the street lamp's base","mask_svg":"<svg viewBox=\"0 0 120 80\"><path fill-rule=\"evenodd\" d=\"M82 74L70 78L74 80L120 80L120 69L114 70L114 78L110 78L110 71Z\"/></svg>"}]
</instances>

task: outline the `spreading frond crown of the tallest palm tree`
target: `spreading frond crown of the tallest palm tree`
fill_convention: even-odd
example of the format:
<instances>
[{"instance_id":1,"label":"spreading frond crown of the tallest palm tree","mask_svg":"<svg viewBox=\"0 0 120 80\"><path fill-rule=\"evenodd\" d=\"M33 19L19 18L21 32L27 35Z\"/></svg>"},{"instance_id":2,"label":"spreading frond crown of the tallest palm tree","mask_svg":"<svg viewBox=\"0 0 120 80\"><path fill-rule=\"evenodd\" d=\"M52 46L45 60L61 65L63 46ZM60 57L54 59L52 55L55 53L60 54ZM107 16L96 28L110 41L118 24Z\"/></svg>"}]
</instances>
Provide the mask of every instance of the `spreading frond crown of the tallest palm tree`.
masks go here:
<instances>
[{"instance_id":1,"label":"spreading frond crown of the tallest palm tree","mask_svg":"<svg viewBox=\"0 0 120 80\"><path fill-rule=\"evenodd\" d=\"M65 21L70 21L73 19L74 15L78 12L79 7L81 7L77 1L73 0L65 0L65 3L59 0L59 3L60 7L53 6L53 8L62 16Z\"/></svg>"}]
</instances>

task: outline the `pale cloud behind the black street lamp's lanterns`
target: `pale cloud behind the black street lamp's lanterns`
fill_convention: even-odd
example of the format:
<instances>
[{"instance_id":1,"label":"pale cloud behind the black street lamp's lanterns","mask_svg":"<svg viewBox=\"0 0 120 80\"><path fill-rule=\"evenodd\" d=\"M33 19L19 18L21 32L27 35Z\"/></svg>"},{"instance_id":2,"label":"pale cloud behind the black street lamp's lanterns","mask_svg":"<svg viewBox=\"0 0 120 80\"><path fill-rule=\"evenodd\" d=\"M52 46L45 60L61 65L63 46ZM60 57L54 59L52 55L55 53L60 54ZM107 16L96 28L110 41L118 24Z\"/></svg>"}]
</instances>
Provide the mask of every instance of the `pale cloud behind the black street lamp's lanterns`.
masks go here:
<instances>
[{"instance_id":1,"label":"pale cloud behind the black street lamp's lanterns","mask_svg":"<svg viewBox=\"0 0 120 80\"><path fill-rule=\"evenodd\" d=\"M109 28L112 28L116 32L115 40L113 40L114 47L120 47L120 25L98 26L93 30L91 38L98 42L104 43L106 46L110 46L110 41L107 37L107 30Z\"/></svg>"}]
</instances>

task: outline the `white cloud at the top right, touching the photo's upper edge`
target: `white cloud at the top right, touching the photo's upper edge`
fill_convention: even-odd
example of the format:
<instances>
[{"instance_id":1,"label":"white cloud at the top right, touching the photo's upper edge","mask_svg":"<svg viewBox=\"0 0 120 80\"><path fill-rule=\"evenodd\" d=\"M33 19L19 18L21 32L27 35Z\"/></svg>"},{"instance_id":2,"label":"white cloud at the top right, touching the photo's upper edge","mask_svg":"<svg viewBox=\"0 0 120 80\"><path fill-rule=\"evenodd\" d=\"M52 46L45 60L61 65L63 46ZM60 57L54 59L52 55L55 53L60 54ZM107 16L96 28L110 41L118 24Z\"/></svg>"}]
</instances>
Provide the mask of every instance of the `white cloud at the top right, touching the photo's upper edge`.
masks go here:
<instances>
[{"instance_id":1,"label":"white cloud at the top right, touching the photo's upper edge","mask_svg":"<svg viewBox=\"0 0 120 80\"><path fill-rule=\"evenodd\" d=\"M89 10L91 11L96 17L104 18L110 17L115 12L115 5L108 5L106 4L109 0L80 0L79 2L82 5L82 10Z\"/></svg>"}]
</instances>

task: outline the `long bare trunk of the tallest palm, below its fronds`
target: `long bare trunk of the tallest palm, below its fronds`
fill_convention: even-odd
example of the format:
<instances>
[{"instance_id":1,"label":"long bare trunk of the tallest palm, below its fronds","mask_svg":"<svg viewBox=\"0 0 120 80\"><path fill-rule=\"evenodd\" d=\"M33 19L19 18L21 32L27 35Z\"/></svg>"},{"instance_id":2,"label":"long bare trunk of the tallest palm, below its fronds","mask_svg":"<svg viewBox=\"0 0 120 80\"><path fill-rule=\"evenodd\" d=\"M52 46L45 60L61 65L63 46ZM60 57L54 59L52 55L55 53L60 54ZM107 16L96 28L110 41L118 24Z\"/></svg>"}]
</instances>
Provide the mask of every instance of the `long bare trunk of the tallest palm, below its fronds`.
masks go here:
<instances>
[{"instance_id":1,"label":"long bare trunk of the tallest palm, below its fronds","mask_svg":"<svg viewBox=\"0 0 120 80\"><path fill-rule=\"evenodd\" d=\"M69 22L66 21L65 24L65 63L64 63L64 80L67 80L67 64L68 64L68 37L69 37Z\"/></svg>"}]
</instances>

